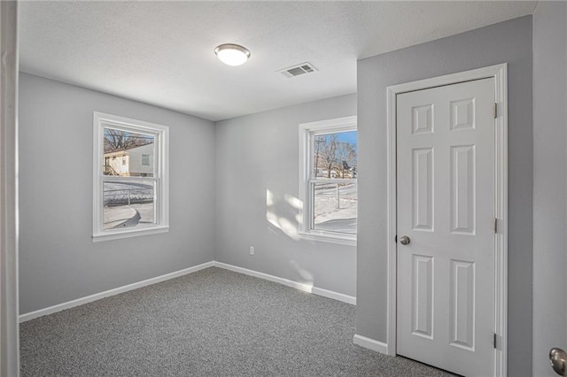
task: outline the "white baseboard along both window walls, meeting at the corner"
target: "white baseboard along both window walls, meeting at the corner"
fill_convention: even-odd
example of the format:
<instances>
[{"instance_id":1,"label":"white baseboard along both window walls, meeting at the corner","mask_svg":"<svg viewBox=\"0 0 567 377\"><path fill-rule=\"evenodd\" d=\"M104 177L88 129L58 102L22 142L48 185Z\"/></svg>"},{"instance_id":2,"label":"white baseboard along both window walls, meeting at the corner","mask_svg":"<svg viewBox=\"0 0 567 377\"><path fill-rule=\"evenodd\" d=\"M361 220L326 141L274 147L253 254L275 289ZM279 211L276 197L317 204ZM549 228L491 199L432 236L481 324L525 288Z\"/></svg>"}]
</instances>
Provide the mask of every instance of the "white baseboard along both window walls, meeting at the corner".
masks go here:
<instances>
[{"instance_id":1,"label":"white baseboard along both window walls, meeting at the corner","mask_svg":"<svg viewBox=\"0 0 567 377\"><path fill-rule=\"evenodd\" d=\"M246 268L238 267L237 265L227 265L226 263L211 261L211 262L203 263L202 265L194 265L192 267L185 268L183 270L175 271L174 273L166 273L165 275L157 276L155 278L147 279L145 281L138 281L136 283L128 284L123 287L105 290L104 292L96 293L94 295L77 298L76 300L67 301L66 303L62 303L62 304L49 306L47 308L43 308L35 312L27 312L19 316L19 323L26 322L27 320L30 319L43 317L44 315L52 314L54 312L61 312L66 309L73 308L74 306L91 303L93 301L100 300L101 298L119 295L120 293L128 292L128 290L138 289L149 286L151 284L159 283L161 281L175 279L177 277L187 275L189 273L196 273L200 270L204 270L205 268L214 267L214 266L219 268L224 268L225 270L234 271L236 273L244 273L246 275L254 276L256 278L264 279L267 281L274 281L276 283L280 283L294 289L299 289L304 292L313 293L314 295L317 296L323 296L323 297L332 298L334 300L342 301L343 303L346 304L353 304L353 305L356 304L356 297L353 296L343 295L342 293L334 292L328 289L316 288L309 284L304 284L297 281L290 281L287 279L279 278L277 276L268 275L268 273L259 273L257 271L252 271Z\"/></svg>"}]
</instances>

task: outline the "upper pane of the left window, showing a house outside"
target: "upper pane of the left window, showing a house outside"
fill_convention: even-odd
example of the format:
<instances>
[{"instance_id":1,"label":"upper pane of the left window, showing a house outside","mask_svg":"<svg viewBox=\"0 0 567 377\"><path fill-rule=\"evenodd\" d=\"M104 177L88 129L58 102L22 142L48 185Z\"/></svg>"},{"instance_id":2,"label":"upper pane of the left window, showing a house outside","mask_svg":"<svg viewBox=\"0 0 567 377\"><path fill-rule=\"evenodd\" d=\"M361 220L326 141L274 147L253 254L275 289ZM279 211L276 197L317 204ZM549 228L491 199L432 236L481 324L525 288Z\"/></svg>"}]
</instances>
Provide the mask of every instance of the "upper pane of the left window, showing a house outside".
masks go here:
<instances>
[{"instance_id":1,"label":"upper pane of the left window, showing a house outside","mask_svg":"<svg viewBox=\"0 0 567 377\"><path fill-rule=\"evenodd\" d=\"M153 177L155 135L105 127L103 173L121 177Z\"/></svg>"}]
</instances>

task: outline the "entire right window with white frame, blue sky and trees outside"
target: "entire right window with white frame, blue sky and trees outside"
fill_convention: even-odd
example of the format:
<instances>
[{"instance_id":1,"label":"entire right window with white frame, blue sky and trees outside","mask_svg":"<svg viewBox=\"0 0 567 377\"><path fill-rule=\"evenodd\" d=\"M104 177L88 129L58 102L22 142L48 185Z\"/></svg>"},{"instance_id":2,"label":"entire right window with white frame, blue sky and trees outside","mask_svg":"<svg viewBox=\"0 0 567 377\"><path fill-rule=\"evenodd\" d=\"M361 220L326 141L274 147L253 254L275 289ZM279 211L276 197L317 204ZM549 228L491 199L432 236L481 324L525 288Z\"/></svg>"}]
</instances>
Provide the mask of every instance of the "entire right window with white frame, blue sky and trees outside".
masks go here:
<instances>
[{"instance_id":1,"label":"entire right window with white frame, blue sky and trees outside","mask_svg":"<svg viewBox=\"0 0 567 377\"><path fill-rule=\"evenodd\" d=\"M299 125L299 235L307 239L356 243L356 117Z\"/></svg>"}]
</instances>

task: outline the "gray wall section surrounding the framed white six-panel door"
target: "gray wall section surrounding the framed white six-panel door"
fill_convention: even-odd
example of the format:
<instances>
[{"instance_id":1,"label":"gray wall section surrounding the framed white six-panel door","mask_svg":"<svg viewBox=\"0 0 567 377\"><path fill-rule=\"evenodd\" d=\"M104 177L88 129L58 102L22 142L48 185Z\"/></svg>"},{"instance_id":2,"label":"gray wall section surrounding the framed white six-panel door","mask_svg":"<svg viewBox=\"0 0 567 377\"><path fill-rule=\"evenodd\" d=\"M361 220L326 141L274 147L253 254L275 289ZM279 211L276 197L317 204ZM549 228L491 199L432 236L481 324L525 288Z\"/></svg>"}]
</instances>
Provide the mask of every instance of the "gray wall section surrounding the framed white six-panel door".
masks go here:
<instances>
[{"instance_id":1,"label":"gray wall section surrounding the framed white six-panel door","mask_svg":"<svg viewBox=\"0 0 567 377\"><path fill-rule=\"evenodd\" d=\"M509 63L509 375L532 374L532 17L358 62L356 333L386 342L386 88Z\"/></svg>"}]
</instances>

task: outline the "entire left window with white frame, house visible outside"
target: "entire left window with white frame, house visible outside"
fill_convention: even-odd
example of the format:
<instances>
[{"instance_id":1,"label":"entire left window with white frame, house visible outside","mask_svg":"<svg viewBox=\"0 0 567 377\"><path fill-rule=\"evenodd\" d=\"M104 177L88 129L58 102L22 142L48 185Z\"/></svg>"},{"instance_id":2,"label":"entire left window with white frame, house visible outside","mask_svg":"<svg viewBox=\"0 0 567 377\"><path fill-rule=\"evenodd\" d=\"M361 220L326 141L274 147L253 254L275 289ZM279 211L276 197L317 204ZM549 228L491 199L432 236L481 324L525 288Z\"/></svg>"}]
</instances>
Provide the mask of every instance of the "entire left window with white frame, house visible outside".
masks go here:
<instances>
[{"instance_id":1,"label":"entire left window with white frame, house visible outside","mask_svg":"<svg viewBox=\"0 0 567 377\"><path fill-rule=\"evenodd\" d=\"M168 127L94 113L93 240L168 230Z\"/></svg>"}]
</instances>

